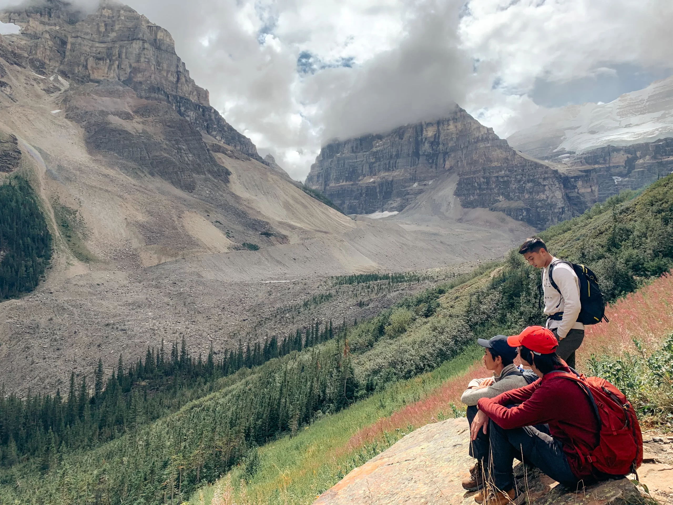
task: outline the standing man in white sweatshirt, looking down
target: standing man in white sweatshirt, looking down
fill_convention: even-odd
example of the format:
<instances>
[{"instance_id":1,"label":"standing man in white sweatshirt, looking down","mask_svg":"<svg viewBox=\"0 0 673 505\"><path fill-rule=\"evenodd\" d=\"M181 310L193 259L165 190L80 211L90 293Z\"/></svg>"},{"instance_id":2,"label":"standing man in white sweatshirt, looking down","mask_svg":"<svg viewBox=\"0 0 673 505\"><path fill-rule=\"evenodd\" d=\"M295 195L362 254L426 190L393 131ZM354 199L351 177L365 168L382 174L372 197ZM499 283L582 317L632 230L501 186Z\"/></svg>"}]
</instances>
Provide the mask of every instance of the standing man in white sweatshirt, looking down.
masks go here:
<instances>
[{"instance_id":1,"label":"standing man in white sweatshirt, looking down","mask_svg":"<svg viewBox=\"0 0 673 505\"><path fill-rule=\"evenodd\" d=\"M584 340L584 325L577 321L581 310L577 274L570 265L549 254L541 238L527 238L521 244L519 254L529 265L542 269L545 327L553 331L559 341L556 353L568 366L575 368L575 351ZM549 265L552 264L552 277L559 290L555 290L549 281Z\"/></svg>"}]
</instances>

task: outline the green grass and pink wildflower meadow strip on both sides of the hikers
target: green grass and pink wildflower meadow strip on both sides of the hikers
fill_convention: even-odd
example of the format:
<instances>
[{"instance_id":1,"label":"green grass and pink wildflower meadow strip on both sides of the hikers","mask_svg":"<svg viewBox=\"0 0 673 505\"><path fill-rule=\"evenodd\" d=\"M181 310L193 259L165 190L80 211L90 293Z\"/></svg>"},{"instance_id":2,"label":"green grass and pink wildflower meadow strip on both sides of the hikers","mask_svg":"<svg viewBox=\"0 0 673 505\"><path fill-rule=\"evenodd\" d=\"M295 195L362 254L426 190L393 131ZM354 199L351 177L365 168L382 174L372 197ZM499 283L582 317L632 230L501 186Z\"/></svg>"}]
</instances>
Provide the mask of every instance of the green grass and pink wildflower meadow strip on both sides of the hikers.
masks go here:
<instances>
[{"instance_id":1,"label":"green grass and pink wildflower meadow strip on both sides of the hikers","mask_svg":"<svg viewBox=\"0 0 673 505\"><path fill-rule=\"evenodd\" d=\"M586 365L592 354L618 358L624 350L636 350L633 337L645 337L652 348L661 345L664 337L673 333L673 277L661 277L618 300L608 307L607 314L610 325L588 327L586 341L578 353L580 370L588 371ZM248 503L310 504L316 495L390 446L400 435L452 413L452 405L460 406L465 384L487 374L476 365L477 356L481 356L481 350L471 347L435 372L358 402L295 438L265 446L260 450L262 467L246 485ZM410 397L419 394L419 401L409 403ZM244 471L245 467L239 466L231 474L241 503L245 503L240 498L240 479L247 478ZM200 504L201 497L209 503L214 490L215 486L205 488L190 503Z\"/></svg>"}]
</instances>

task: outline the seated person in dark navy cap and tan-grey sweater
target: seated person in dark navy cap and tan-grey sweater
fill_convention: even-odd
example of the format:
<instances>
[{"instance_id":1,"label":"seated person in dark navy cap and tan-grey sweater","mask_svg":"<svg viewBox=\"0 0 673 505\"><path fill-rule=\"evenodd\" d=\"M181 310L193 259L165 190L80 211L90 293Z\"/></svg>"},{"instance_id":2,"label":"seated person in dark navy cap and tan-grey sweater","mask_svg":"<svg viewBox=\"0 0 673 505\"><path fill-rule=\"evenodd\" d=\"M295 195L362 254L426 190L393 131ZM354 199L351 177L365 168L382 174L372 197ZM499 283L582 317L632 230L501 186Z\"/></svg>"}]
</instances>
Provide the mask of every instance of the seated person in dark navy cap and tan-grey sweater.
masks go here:
<instances>
[{"instance_id":1,"label":"seated person in dark navy cap and tan-grey sweater","mask_svg":"<svg viewBox=\"0 0 673 505\"><path fill-rule=\"evenodd\" d=\"M468 406L467 419L470 424L478 411L476 403L480 398L495 398L505 391L528 385L523 372L513 363L517 356L516 347L507 344L505 335L496 335L490 340L479 339L478 343L485 347L483 362L486 369L493 372L493 376L470 380L460 398ZM476 463L470 469L470 476L462 481L464 489L476 491L483 487L489 451L489 436L480 432L476 440L470 443L470 456L476 458Z\"/></svg>"}]
</instances>

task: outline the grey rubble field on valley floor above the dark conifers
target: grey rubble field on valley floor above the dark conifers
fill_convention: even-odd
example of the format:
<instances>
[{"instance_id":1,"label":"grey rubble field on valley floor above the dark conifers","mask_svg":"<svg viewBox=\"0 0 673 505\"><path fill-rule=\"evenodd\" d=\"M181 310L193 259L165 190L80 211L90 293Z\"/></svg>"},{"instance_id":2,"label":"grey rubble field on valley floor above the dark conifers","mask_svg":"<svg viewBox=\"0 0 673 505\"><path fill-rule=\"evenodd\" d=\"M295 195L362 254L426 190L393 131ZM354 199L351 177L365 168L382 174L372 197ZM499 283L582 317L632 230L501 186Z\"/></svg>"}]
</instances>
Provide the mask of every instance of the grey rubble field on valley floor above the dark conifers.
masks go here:
<instances>
[{"instance_id":1,"label":"grey rubble field on valley floor above the dark conifers","mask_svg":"<svg viewBox=\"0 0 673 505\"><path fill-rule=\"evenodd\" d=\"M183 270L96 271L40 286L8 300L0 312L0 376L7 391L54 392L71 371L91 375L102 358L106 374L144 358L147 347L166 351L182 338L190 353L216 358L238 341L294 333L330 319L334 325L369 318L404 296L425 290L474 265L436 269L409 281L335 285L332 277L219 281ZM323 326L324 327L324 326Z\"/></svg>"}]
</instances>

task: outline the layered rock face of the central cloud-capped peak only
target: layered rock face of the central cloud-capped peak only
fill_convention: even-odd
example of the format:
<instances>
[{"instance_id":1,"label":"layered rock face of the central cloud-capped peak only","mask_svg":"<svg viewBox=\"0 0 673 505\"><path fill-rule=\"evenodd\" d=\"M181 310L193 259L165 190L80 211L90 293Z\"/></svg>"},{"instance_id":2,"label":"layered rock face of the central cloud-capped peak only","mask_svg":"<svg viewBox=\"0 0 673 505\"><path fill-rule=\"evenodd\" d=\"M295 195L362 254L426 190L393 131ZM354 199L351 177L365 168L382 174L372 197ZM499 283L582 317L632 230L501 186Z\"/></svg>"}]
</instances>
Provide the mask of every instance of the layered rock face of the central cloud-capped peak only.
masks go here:
<instances>
[{"instance_id":1,"label":"layered rock face of the central cloud-capped peak only","mask_svg":"<svg viewBox=\"0 0 673 505\"><path fill-rule=\"evenodd\" d=\"M454 196L463 207L503 211L537 228L573 215L556 170L520 156L461 108L439 121L330 143L306 184L346 213L363 214L402 211L446 174L459 176Z\"/></svg>"}]
</instances>

